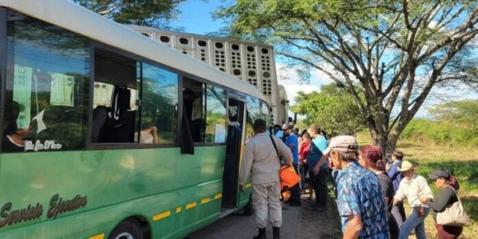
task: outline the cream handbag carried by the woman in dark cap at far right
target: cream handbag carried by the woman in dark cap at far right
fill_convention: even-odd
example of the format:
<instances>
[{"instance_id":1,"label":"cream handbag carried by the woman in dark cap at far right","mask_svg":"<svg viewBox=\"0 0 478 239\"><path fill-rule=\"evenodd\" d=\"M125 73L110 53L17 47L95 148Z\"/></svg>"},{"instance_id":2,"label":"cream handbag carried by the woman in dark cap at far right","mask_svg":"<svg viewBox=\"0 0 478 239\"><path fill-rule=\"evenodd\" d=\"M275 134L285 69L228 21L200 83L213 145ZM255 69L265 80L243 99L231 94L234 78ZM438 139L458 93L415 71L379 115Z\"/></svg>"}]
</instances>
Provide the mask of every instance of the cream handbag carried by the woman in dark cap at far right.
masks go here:
<instances>
[{"instance_id":1,"label":"cream handbag carried by the woman in dark cap at far right","mask_svg":"<svg viewBox=\"0 0 478 239\"><path fill-rule=\"evenodd\" d=\"M453 189L453 191L455 191L455 188L451 188ZM458 201L456 201L452 205L448 205L443 212L437 213L438 225L455 227L463 227L469 225L468 215L465 212L462 201L459 200L457 191L455 191L455 195L457 196Z\"/></svg>"}]
</instances>

